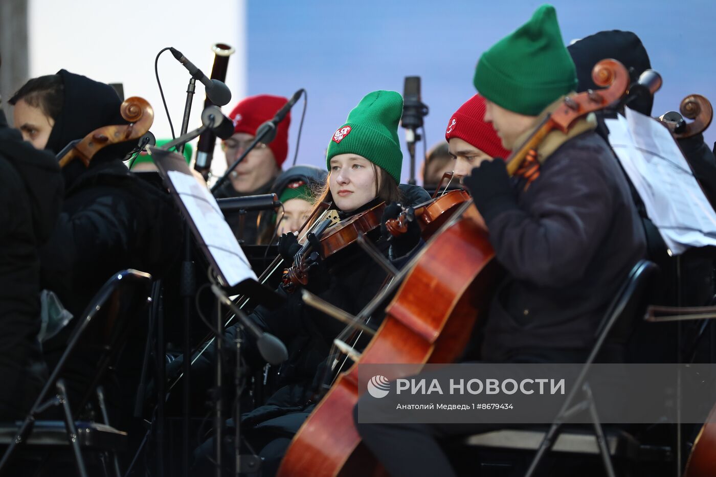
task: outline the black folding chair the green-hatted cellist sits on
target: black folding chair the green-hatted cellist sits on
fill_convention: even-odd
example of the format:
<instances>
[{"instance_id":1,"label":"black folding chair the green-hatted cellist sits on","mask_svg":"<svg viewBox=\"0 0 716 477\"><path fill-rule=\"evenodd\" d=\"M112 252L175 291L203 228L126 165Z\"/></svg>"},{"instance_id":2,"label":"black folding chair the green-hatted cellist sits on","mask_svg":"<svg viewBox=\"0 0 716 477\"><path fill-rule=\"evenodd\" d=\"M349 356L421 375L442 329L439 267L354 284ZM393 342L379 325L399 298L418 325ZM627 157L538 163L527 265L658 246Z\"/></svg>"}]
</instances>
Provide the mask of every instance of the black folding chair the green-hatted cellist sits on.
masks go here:
<instances>
[{"instance_id":1,"label":"black folding chair the green-hatted cellist sits on","mask_svg":"<svg viewBox=\"0 0 716 477\"><path fill-rule=\"evenodd\" d=\"M669 449L642 446L624 431L615 430L607 435L599 422L596 405L587 380L591 365L600 361L606 351L619 350L620 347L627 344L638 320L644 317L648 299L646 291L658 270L659 268L651 261L642 260L629 272L629 276L602 319L596 332L594 347L579 372L574 387L571 388L561 410L548 430L536 430L535 428L495 430L472 435L465 440L465 443L485 448L536 450L526 477L532 477L536 473L540 462L550 450L599 455L604 463L606 474L610 477L615 475L611 456L641 457L648 460L671 458ZM613 348L607 350L609 347ZM610 361L612 358L610 356L606 360ZM583 411L587 411L591 415L594 435L585 432L584 429L563 430L563 425L571 415Z\"/></svg>"}]
</instances>

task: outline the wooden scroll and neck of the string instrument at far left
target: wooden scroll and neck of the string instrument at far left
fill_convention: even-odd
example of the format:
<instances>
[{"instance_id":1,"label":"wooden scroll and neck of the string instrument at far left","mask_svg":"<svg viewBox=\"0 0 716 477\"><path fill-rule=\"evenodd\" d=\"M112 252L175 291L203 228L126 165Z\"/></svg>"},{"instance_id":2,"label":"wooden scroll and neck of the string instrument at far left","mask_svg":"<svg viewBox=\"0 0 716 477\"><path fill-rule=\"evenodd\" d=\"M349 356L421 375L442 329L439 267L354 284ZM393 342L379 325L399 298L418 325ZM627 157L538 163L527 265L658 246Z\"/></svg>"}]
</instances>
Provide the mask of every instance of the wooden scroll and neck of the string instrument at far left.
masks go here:
<instances>
[{"instance_id":1,"label":"wooden scroll and neck of the string instrument at far left","mask_svg":"<svg viewBox=\"0 0 716 477\"><path fill-rule=\"evenodd\" d=\"M79 159L84 167L88 168L92 157L100 150L108 145L141 138L154 122L152 106L147 100L138 96L124 100L120 105L120 114L126 121L129 121L128 125L103 126L84 136L84 139L71 143L69 146L72 148L67 153L62 151L64 155L59 160L59 166L64 168L73 159Z\"/></svg>"}]
</instances>

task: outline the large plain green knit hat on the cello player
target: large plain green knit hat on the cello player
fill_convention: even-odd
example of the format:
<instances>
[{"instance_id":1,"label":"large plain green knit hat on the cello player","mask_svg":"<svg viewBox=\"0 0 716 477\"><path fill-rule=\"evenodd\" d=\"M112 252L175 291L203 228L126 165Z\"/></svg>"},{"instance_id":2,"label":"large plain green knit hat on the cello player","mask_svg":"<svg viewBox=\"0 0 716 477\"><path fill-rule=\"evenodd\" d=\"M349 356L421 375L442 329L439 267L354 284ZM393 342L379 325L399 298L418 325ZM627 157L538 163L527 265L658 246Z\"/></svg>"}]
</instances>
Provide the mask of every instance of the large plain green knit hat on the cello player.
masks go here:
<instances>
[{"instance_id":1,"label":"large plain green knit hat on the cello player","mask_svg":"<svg viewBox=\"0 0 716 477\"><path fill-rule=\"evenodd\" d=\"M539 7L526 24L484 52L473 83L496 105L528 116L574 91L576 69L554 7Z\"/></svg>"}]
</instances>

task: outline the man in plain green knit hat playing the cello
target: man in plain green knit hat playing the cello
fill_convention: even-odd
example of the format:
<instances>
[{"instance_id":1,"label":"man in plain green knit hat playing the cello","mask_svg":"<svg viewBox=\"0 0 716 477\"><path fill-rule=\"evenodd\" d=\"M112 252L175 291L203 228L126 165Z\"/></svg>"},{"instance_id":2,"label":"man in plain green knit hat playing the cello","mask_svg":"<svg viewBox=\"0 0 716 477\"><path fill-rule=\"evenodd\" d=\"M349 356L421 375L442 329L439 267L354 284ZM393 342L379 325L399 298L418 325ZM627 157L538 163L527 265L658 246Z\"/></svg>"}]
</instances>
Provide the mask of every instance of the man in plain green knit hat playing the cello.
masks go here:
<instances>
[{"instance_id":1,"label":"man in plain green knit hat playing the cello","mask_svg":"<svg viewBox=\"0 0 716 477\"><path fill-rule=\"evenodd\" d=\"M474 84L487 100L483 120L492 123L505 149L518 149L576 87L554 8L541 6L483 53ZM587 117L567 134L550 133L514 178L499 159L484 160L463 179L507 275L490 303L482 340L465 350L466 357L584 362L593 347L609 303L645 253L629 186L595 127ZM619 351L610 359L621 359ZM357 409L369 406L369 399L365 394ZM555 402L558 408L561 402ZM356 425L392 476L455 475L438 439L495 427L370 424L361 423L358 413Z\"/></svg>"}]
</instances>

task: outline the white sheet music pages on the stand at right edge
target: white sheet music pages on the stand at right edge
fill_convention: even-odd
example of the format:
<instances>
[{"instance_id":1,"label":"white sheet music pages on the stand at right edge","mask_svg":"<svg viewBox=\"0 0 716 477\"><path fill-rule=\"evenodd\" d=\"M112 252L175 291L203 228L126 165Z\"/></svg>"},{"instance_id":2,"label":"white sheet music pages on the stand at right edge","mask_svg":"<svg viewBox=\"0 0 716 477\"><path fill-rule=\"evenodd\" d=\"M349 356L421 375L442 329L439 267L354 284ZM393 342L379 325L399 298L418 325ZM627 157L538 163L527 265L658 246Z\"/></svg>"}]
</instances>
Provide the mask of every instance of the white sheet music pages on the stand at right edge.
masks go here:
<instances>
[{"instance_id":1,"label":"white sheet music pages on the stand at right edge","mask_svg":"<svg viewBox=\"0 0 716 477\"><path fill-rule=\"evenodd\" d=\"M629 108L626 115L606 120L609 143L672 255L716 246L716 213L669 130Z\"/></svg>"}]
</instances>

